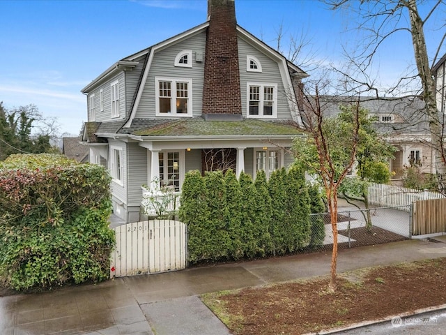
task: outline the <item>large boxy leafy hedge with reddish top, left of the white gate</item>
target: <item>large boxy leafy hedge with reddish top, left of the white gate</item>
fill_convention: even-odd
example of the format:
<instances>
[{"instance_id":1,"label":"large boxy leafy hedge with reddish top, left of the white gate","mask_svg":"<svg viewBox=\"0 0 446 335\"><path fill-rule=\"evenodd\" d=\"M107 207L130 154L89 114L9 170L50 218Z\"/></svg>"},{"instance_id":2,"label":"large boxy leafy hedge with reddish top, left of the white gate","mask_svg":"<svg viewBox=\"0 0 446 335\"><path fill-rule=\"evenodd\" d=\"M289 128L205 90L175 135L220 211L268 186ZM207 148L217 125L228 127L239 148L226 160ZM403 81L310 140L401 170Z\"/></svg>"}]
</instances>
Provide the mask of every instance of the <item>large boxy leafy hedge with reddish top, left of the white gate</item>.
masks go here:
<instances>
[{"instance_id":1,"label":"large boxy leafy hedge with reddish top, left of the white gate","mask_svg":"<svg viewBox=\"0 0 446 335\"><path fill-rule=\"evenodd\" d=\"M110 177L58 155L0 163L0 275L16 290L109 278Z\"/></svg>"}]
</instances>

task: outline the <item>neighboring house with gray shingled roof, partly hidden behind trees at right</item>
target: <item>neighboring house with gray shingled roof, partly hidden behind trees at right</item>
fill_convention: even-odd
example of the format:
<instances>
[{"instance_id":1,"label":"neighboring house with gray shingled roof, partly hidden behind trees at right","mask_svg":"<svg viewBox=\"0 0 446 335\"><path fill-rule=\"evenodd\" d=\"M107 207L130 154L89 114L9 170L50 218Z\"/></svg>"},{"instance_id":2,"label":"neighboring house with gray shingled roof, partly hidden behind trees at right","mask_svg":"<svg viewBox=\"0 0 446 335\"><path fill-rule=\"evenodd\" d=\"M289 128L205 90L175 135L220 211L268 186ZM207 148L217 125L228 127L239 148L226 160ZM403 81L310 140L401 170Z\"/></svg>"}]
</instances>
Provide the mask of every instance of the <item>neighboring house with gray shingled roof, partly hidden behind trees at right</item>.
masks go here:
<instances>
[{"instance_id":1,"label":"neighboring house with gray shingled roof, partly hidden behind trees at right","mask_svg":"<svg viewBox=\"0 0 446 335\"><path fill-rule=\"evenodd\" d=\"M340 96L325 96L322 100L326 115L339 113L341 105L357 103L357 98ZM375 126L387 142L397 147L389 166L394 182L403 177L403 170L410 165L417 165L422 173L435 173L429 123L422 99L361 97L360 105L376 119Z\"/></svg>"}]
</instances>

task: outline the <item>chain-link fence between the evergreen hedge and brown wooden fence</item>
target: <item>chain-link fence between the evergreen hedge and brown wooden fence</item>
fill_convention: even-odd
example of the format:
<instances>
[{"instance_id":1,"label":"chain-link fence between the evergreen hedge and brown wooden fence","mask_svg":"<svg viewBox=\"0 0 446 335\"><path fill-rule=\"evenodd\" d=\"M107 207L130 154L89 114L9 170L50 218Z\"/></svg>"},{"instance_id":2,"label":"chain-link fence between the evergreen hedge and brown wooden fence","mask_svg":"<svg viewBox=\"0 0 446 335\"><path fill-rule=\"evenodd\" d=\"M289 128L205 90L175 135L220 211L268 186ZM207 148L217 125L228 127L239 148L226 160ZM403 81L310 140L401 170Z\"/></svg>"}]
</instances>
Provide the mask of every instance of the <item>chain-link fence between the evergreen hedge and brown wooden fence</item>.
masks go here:
<instances>
[{"instance_id":1,"label":"chain-link fence between the evergreen hedge and brown wooden fence","mask_svg":"<svg viewBox=\"0 0 446 335\"><path fill-rule=\"evenodd\" d=\"M311 253L331 250L333 233L330 214L312 214L311 221L313 242L304 251ZM410 205L339 211L337 221L338 248L369 246L410 238ZM322 226L325 234L321 231ZM314 229L315 227L318 229Z\"/></svg>"}]
</instances>

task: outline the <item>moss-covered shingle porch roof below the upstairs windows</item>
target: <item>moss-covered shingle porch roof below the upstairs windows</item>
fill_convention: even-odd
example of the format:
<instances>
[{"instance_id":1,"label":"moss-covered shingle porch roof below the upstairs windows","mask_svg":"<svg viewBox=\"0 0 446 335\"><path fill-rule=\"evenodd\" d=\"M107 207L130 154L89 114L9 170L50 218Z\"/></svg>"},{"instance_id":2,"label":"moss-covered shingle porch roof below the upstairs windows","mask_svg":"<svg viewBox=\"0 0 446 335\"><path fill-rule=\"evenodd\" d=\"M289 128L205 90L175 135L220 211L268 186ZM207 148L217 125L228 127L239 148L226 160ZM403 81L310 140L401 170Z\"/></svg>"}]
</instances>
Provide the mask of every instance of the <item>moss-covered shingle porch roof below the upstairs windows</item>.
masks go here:
<instances>
[{"instance_id":1,"label":"moss-covered shingle porch roof below the upstairs windows","mask_svg":"<svg viewBox=\"0 0 446 335\"><path fill-rule=\"evenodd\" d=\"M206 121L201 118L175 120L134 131L139 136L243 136L243 135L301 135L293 121Z\"/></svg>"}]
</instances>

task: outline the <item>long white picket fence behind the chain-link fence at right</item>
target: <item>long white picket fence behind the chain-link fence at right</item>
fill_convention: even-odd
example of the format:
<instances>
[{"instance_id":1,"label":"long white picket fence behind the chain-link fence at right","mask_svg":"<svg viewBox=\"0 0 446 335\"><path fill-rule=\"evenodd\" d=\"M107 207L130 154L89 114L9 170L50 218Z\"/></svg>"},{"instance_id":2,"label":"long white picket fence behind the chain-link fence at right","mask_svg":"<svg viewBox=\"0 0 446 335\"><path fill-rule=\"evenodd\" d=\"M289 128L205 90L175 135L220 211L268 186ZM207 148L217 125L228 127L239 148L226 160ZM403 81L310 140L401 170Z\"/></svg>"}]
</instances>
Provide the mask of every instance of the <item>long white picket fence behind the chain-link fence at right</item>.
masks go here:
<instances>
[{"instance_id":1,"label":"long white picket fence behind the chain-link fence at right","mask_svg":"<svg viewBox=\"0 0 446 335\"><path fill-rule=\"evenodd\" d=\"M442 199L445 196L438 192L419 191L400 186L371 184L368 189L369 204L379 207L408 206L415 201Z\"/></svg>"}]
</instances>

